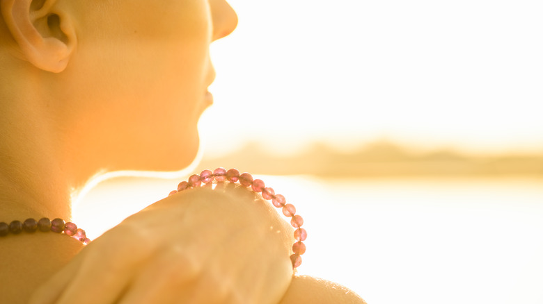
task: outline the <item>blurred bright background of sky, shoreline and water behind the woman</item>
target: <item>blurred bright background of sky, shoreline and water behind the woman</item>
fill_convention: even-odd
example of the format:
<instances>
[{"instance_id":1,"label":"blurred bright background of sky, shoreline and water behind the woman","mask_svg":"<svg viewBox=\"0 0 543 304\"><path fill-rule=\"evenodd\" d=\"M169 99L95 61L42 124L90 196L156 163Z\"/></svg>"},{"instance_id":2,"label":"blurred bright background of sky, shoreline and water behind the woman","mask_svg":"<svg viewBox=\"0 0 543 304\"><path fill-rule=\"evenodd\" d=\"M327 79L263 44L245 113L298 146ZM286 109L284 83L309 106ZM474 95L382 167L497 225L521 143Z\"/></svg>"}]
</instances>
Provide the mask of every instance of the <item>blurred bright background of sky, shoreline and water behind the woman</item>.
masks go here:
<instances>
[{"instance_id":1,"label":"blurred bright background of sky, shoreline and water behind the woman","mask_svg":"<svg viewBox=\"0 0 543 304\"><path fill-rule=\"evenodd\" d=\"M370 304L543 303L541 1L230 4L191 172L284 194L299 272ZM75 220L96 237L179 181L108 180Z\"/></svg>"}]
</instances>

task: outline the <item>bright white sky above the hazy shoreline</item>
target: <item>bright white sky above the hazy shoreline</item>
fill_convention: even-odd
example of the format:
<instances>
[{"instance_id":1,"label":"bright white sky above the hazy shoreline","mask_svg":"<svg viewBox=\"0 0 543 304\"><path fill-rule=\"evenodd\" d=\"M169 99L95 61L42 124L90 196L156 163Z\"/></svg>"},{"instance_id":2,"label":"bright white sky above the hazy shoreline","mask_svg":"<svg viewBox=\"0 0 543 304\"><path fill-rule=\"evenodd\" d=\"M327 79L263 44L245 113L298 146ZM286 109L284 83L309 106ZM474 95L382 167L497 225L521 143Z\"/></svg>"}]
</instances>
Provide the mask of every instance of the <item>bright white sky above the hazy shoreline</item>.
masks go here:
<instances>
[{"instance_id":1,"label":"bright white sky above the hazy shoreline","mask_svg":"<svg viewBox=\"0 0 543 304\"><path fill-rule=\"evenodd\" d=\"M208 155L381 138L543 151L541 1L230 3L239 26L212 48L215 104L200 121Z\"/></svg>"}]
</instances>

